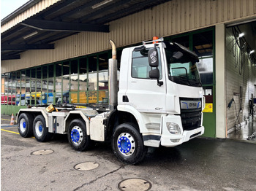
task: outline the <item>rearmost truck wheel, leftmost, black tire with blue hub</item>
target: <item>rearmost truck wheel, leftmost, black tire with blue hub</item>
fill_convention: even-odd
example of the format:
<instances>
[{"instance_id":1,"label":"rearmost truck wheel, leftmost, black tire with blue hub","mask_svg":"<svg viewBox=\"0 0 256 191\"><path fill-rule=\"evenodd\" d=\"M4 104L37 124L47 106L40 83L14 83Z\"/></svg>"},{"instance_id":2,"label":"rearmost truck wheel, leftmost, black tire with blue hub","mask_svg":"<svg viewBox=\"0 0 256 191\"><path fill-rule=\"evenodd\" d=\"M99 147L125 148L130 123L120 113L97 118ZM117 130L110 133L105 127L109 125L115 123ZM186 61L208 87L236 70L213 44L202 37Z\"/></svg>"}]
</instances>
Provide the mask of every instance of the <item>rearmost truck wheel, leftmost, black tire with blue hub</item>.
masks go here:
<instances>
[{"instance_id":1,"label":"rearmost truck wheel, leftmost, black tire with blue hub","mask_svg":"<svg viewBox=\"0 0 256 191\"><path fill-rule=\"evenodd\" d=\"M22 113L18 117L18 131L22 137L33 135L33 117L29 113Z\"/></svg>"}]
</instances>

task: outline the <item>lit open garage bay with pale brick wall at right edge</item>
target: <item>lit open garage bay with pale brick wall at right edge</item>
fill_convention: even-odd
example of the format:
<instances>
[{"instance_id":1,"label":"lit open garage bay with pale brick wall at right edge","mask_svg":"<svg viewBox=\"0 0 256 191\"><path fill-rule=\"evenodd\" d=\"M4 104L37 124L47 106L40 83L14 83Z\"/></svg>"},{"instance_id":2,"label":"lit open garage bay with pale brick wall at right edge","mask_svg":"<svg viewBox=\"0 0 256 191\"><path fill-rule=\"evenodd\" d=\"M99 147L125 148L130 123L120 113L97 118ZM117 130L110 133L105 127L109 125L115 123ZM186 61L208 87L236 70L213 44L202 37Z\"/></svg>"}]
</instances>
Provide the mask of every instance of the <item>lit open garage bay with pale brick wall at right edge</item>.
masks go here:
<instances>
[{"instance_id":1,"label":"lit open garage bay with pale brick wall at right edge","mask_svg":"<svg viewBox=\"0 0 256 191\"><path fill-rule=\"evenodd\" d=\"M256 21L226 28L227 138L255 140Z\"/></svg>"}]
</instances>

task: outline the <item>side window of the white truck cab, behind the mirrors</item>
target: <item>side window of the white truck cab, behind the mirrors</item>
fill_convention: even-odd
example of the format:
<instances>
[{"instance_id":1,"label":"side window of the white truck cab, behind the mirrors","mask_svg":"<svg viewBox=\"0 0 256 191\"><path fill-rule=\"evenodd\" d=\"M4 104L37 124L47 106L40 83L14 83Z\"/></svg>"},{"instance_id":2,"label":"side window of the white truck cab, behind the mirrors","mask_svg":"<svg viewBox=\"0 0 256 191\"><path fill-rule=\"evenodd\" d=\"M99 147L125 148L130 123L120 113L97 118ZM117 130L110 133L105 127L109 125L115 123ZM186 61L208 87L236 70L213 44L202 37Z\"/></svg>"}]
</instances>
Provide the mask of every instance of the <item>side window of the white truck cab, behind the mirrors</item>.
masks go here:
<instances>
[{"instance_id":1,"label":"side window of the white truck cab, behind the mirrors","mask_svg":"<svg viewBox=\"0 0 256 191\"><path fill-rule=\"evenodd\" d=\"M160 55L159 49L158 54ZM162 79L162 67L159 56L159 67L160 79ZM140 79L150 79L148 72L151 71L151 67L148 63L148 55L141 54L140 51L132 52L132 77Z\"/></svg>"}]
</instances>

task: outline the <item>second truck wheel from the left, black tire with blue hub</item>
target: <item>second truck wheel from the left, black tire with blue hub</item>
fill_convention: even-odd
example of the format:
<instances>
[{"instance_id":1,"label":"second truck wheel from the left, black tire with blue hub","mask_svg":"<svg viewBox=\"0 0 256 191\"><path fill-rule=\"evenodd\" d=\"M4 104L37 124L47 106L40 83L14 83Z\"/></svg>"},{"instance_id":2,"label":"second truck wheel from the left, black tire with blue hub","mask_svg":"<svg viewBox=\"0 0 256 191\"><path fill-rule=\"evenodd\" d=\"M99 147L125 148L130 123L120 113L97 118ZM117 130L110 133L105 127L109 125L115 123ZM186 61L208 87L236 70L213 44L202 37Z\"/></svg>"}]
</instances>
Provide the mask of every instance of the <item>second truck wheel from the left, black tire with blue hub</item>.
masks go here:
<instances>
[{"instance_id":1,"label":"second truck wheel from the left, black tire with blue hub","mask_svg":"<svg viewBox=\"0 0 256 191\"><path fill-rule=\"evenodd\" d=\"M49 141L53 136L53 133L48 132L48 128L46 128L45 125L45 117L42 115L37 115L37 117L34 118L33 133L34 137L39 142Z\"/></svg>"}]
</instances>

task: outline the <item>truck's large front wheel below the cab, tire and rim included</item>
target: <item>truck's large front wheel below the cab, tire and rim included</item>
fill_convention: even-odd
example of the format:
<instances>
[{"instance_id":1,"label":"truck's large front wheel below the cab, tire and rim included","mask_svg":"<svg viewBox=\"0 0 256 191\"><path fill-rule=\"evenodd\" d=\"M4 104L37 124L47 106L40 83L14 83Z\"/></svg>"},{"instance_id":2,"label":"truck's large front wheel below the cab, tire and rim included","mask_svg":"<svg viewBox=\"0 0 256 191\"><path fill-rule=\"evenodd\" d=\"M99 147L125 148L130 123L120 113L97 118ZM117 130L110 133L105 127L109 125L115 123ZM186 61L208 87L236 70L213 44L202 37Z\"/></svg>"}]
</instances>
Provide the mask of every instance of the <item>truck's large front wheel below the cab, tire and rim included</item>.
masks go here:
<instances>
[{"instance_id":1,"label":"truck's large front wheel below the cab, tire and rim included","mask_svg":"<svg viewBox=\"0 0 256 191\"><path fill-rule=\"evenodd\" d=\"M118 160L129 165L140 163L148 152L138 127L130 123L118 125L113 133L112 149Z\"/></svg>"}]
</instances>

